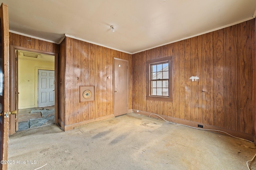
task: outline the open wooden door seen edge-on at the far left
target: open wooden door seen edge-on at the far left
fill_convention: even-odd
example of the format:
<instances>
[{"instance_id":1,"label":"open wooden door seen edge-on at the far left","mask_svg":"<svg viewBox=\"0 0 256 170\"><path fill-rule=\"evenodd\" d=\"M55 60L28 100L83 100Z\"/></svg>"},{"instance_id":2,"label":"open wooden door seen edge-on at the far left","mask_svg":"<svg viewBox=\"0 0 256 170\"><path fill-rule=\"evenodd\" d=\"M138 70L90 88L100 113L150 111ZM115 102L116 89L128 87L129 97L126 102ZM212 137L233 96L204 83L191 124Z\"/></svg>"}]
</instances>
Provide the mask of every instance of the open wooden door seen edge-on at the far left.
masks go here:
<instances>
[{"instance_id":1,"label":"open wooden door seen edge-on at the far left","mask_svg":"<svg viewBox=\"0 0 256 170\"><path fill-rule=\"evenodd\" d=\"M10 54L9 54L9 22L8 6L1 4L0 7L0 105L2 105L0 116L0 138L1 138L1 160L8 158L8 136L9 136L9 112L10 112ZM5 163L5 162L4 162ZM7 163L7 162L6 162ZM0 164L1 169L7 169L7 164Z\"/></svg>"}]
</instances>

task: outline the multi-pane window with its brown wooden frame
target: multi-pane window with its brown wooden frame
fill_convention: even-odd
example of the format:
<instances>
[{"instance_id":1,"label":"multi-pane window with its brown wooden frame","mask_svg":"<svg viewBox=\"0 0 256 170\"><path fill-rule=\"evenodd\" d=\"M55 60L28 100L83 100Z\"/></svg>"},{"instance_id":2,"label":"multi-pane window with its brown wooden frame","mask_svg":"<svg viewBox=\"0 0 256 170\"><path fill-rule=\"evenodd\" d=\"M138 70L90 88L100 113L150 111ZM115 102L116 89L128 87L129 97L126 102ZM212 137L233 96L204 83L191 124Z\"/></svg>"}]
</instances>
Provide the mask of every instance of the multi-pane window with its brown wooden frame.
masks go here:
<instances>
[{"instance_id":1,"label":"multi-pane window with its brown wooden frame","mask_svg":"<svg viewBox=\"0 0 256 170\"><path fill-rule=\"evenodd\" d=\"M146 62L147 100L172 102L172 57Z\"/></svg>"}]
</instances>

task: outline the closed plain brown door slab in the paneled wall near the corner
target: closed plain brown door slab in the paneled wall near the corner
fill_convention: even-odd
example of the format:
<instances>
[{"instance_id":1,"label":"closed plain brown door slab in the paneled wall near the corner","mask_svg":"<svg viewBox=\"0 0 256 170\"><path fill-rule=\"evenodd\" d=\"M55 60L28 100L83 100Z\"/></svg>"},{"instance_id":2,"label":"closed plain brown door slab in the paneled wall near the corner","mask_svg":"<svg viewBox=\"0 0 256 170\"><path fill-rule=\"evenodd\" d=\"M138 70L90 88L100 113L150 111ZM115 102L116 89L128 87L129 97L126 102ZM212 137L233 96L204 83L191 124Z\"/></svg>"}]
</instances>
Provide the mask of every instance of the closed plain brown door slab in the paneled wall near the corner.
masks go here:
<instances>
[{"instance_id":1,"label":"closed plain brown door slab in the paneled wall near the corner","mask_svg":"<svg viewBox=\"0 0 256 170\"><path fill-rule=\"evenodd\" d=\"M114 59L114 115L128 113L128 61Z\"/></svg>"}]
</instances>

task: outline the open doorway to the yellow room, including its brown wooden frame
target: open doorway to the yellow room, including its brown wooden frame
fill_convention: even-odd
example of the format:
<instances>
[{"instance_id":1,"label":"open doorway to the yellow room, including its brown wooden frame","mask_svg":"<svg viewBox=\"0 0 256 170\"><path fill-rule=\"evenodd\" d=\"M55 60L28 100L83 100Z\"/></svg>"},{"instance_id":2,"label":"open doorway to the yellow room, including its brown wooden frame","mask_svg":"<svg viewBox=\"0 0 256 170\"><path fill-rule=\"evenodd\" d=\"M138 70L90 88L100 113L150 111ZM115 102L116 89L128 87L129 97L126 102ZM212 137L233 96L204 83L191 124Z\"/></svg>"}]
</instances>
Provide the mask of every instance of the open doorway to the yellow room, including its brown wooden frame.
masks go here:
<instances>
[{"instance_id":1,"label":"open doorway to the yellow room, including its brown wooden frame","mask_svg":"<svg viewBox=\"0 0 256 170\"><path fill-rule=\"evenodd\" d=\"M58 120L58 53L10 45L10 133Z\"/></svg>"}]
</instances>

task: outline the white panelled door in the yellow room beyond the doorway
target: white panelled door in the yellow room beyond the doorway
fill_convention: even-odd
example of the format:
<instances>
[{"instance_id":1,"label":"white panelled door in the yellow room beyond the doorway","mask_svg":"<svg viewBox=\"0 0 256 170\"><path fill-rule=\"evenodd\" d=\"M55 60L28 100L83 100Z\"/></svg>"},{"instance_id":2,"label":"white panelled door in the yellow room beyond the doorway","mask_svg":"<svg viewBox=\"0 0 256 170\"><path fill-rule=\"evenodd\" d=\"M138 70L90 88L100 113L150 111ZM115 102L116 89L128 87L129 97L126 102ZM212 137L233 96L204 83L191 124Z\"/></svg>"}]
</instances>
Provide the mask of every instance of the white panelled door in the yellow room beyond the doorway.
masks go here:
<instances>
[{"instance_id":1,"label":"white panelled door in the yellow room beyond the doorway","mask_svg":"<svg viewBox=\"0 0 256 170\"><path fill-rule=\"evenodd\" d=\"M38 70L38 107L54 105L54 71Z\"/></svg>"}]
</instances>

